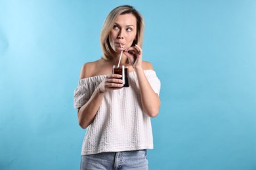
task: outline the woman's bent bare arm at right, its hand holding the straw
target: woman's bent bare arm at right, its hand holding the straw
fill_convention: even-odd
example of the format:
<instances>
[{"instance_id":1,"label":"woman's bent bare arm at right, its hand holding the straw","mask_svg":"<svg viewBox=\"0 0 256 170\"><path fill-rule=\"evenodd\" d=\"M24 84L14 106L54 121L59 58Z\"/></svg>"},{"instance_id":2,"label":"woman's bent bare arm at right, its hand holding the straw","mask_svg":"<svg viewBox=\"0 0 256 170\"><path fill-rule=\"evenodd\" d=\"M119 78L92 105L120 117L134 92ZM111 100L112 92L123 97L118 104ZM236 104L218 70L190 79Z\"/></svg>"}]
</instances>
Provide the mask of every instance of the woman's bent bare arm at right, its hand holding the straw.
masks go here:
<instances>
[{"instance_id":1,"label":"woman's bent bare arm at right, its hand holding the straw","mask_svg":"<svg viewBox=\"0 0 256 170\"><path fill-rule=\"evenodd\" d=\"M146 75L142 69L142 49L140 46L136 45L125 50L124 54L127 56L129 62L131 65L133 65L133 68L137 73L141 103L144 111L150 117L158 116L160 109L160 98L150 86L148 79L146 78ZM147 69L153 70L151 63L146 63L145 67Z\"/></svg>"}]
</instances>

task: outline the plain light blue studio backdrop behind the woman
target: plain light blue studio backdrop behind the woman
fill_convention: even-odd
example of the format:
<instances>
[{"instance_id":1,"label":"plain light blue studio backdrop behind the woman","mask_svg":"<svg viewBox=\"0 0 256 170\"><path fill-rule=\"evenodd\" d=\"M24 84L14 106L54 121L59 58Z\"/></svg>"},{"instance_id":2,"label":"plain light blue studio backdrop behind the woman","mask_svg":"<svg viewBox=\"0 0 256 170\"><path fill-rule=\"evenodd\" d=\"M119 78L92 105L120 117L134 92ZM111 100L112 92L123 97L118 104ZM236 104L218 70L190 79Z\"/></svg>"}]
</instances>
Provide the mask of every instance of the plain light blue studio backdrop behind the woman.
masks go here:
<instances>
[{"instance_id":1,"label":"plain light blue studio backdrop behind the woman","mask_svg":"<svg viewBox=\"0 0 256 170\"><path fill-rule=\"evenodd\" d=\"M117 5L161 80L150 169L256 169L256 1L0 0L0 169L79 169L73 93Z\"/></svg>"}]
</instances>

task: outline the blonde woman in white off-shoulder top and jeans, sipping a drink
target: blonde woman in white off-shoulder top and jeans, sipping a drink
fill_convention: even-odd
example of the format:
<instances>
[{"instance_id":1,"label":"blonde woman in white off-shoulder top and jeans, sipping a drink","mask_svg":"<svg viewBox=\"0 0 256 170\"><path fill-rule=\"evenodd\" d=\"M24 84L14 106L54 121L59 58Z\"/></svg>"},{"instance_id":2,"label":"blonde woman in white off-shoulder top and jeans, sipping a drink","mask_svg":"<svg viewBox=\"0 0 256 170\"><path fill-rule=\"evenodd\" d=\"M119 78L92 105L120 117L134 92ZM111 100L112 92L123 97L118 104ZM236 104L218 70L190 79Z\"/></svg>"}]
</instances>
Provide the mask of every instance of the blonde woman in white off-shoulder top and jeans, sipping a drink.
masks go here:
<instances>
[{"instance_id":1,"label":"blonde woman in white off-shoulder top and jeans, sipping a drink","mask_svg":"<svg viewBox=\"0 0 256 170\"><path fill-rule=\"evenodd\" d=\"M81 169L148 169L146 149L153 148L150 118L160 108L160 80L142 61L144 20L133 7L113 9L100 33L102 58L85 63L74 92L79 126L87 128ZM129 68L129 88L113 65Z\"/></svg>"}]
</instances>

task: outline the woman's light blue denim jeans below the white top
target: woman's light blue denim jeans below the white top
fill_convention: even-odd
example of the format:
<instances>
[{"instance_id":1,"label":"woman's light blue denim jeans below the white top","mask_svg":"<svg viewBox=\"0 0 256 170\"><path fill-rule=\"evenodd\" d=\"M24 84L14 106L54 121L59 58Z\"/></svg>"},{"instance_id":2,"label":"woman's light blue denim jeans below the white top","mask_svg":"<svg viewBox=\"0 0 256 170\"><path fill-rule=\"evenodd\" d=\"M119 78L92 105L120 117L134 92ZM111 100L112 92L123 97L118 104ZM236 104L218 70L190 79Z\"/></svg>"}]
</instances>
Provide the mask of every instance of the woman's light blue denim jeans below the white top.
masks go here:
<instances>
[{"instance_id":1,"label":"woman's light blue denim jeans below the white top","mask_svg":"<svg viewBox=\"0 0 256 170\"><path fill-rule=\"evenodd\" d=\"M148 170L148 158L146 157L146 149L82 155L80 170L89 169Z\"/></svg>"}]
</instances>

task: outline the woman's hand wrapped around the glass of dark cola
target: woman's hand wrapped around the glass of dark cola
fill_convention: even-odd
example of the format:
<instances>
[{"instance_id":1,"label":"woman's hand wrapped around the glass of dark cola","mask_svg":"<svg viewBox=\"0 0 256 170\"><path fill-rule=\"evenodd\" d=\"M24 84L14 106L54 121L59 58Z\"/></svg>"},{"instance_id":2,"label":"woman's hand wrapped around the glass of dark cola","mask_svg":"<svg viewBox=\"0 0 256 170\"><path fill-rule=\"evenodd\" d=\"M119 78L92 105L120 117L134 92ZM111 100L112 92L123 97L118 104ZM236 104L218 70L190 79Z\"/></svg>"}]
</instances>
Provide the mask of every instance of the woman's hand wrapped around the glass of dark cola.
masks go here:
<instances>
[{"instance_id":1,"label":"woman's hand wrapped around the glass of dark cola","mask_svg":"<svg viewBox=\"0 0 256 170\"><path fill-rule=\"evenodd\" d=\"M106 78L98 85L101 93L105 93L110 90L118 90L123 88L123 80L121 75L112 74L107 75Z\"/></svg>"}]
</instances>

